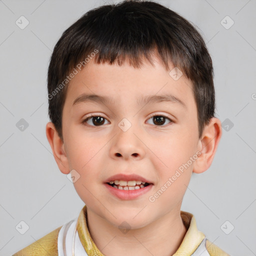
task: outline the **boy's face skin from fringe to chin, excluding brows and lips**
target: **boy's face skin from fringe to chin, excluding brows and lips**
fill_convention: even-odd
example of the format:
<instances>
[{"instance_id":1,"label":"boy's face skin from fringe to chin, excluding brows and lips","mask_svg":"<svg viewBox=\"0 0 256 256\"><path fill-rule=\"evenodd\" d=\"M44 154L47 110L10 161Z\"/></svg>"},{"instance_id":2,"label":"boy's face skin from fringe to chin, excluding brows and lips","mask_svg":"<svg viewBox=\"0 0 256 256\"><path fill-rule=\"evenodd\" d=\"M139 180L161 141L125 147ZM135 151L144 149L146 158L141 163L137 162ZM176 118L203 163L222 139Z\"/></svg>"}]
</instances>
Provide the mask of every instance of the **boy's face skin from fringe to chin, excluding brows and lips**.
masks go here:
<instances>
[{"instance_id":1,"label":"boy's face skin from fringe to chin, excluding brows and lips","mask_svg":"<svg viewBox=\"0 0 256 256\"><path fill-rule=\"evenodd\" d=\"M111 97L113 102L73 104L83 93ZM184 105L178 101L137 102L165 94ZM82 123L89 114L105 119L91 118ZM68 166L61 171L67 174L74 169L79 173L74 187L93 214L115 225L125 220L136 228L179 212L195 153L201 149L192 83L184 75L174 80L159 62L155 67L144 62L137 69L127 63L118 66L91 61L68 85L62 132ZM188 161L191 157L194 160ZM174 180L176 170L187 162L192 163ZM153 185L134 199L119 199L104 184L118 173L138 174ZM169 178L171 185L167 185Z\"/></svg>"}]
</instances>

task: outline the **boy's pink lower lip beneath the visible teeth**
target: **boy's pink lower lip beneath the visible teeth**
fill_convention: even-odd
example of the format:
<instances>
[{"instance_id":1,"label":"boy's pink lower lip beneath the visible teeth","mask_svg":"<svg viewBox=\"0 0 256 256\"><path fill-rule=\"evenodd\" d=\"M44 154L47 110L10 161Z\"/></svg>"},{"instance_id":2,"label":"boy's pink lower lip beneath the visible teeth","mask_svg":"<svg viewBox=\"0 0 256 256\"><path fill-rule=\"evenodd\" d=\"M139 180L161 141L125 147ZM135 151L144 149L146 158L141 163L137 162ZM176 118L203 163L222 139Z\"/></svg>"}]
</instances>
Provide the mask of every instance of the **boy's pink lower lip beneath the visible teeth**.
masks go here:
<instances>
[{"instance_id":1,"label":"boy's pink lower lip beneath the visible teeth","mask_svg":"<svg viewBox=\"0 0 256 256\"><path fill-rule=\"evenodd\" d=\"M109 190L110 193L112 193L113 195L115 195L116 197L118 197L119 199L122 199L122 200L135 199L138 196L148 192L153 186L153 184L149 184L149 185L144 186L139 189L123 190L123 189L118 189L113 186L110 186L107 183L104 183L104 185L106 186L106 188Z\"/></svg>"}]
</instances>

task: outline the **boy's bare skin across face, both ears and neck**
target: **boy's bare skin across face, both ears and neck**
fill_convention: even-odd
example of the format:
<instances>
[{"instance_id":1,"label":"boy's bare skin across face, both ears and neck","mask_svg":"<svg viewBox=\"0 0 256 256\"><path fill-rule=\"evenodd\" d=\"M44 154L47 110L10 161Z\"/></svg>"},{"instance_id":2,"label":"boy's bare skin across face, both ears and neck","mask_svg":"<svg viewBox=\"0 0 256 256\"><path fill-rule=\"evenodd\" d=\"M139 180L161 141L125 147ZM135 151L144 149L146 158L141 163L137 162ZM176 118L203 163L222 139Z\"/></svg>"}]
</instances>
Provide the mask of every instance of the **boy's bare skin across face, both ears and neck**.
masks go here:
<instances>
[{"instance_id":1,"label":"boy's bare skin across face, both ears and neck","mask_svg":"<svg viewBox=\"0 0 256 256\"><path fill-rule=\"evenodd\" d=\"M192 172L208 169L221 136L221 123L213 117L198 137L192 83L184 75L175 81L159 59L154 60L154 66L144 61L141 68L126 62L118 66L90 61L68 85L63 142L54 125L46 125L46 136L60 171L68 174L75 169L80 175L73 184L87 205L91 237L106 256L175 253L186 233L180 217L186 186ZM170 70L173 67L170 63ZM115 103L81 102L72 106L82 93L112 96ZM140 95L164 93L181 99L185 107L176 102L141 106L136 102ZM100 113L106 119L100 126L93 126L91 119L82 123L89 113ZM150 114L167 115L173 122L165 118L159 125ZM131 123L125 132L118 127L122 118ZM201 152L197 159L158 198L149 201L148 197L196 151ZM139 198L120 200L103 185L105 179L117 173L137 173L154 185ZM118 228L123 221L130 225L127 233Z\"/></svg>"}]
</instances>

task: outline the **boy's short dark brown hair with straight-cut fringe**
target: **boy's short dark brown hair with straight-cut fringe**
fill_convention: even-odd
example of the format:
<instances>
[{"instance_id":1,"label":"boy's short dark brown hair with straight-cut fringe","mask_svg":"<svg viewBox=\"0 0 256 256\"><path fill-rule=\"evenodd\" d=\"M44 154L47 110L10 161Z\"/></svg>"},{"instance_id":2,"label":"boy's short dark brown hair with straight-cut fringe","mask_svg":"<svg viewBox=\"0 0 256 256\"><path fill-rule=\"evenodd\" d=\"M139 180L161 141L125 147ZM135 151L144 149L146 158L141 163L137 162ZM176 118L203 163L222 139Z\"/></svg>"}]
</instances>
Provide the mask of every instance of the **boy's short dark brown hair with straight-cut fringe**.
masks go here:
<instances>
[{"instance_id":1,"label":"boy's short dark brown hair with straight-cut fringe","mask_svg":"<svg viewBox=\"0 0 256 256\"><path fill-rule=\"evenodd\" d=\"M124 0L86 12L62 33L54 47L47 76L48 114L62 141L66 77L95 49L95 63L117 61L121 65L128 60L136 68L144 58L152 63L155 52L166 69L171 61L192 81L201 136L215 109L212 61L201 35L185 18L159 3Z\"/></svg>"}]
</instances>

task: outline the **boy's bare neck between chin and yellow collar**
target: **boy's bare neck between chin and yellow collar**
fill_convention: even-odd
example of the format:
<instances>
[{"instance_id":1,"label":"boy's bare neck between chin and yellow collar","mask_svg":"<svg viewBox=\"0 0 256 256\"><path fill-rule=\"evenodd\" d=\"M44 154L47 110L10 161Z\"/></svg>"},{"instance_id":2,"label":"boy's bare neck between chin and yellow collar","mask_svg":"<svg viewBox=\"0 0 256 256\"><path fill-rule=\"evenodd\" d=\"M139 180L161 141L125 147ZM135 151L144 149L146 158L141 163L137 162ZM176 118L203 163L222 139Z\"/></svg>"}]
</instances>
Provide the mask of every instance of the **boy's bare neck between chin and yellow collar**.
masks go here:
<instances>
[{"instance_id":1,"label":"boy's bare neck between chin and yellow collar","mask_svg":"<svg viewBox=\"0 0 256 256\"><path fill-rule=\"evenodd\" d=\"M125 233L87 208L87 225L95 245L105 256L170 256L186 234L180 208Z\"/></svg>"}]
</instances>

